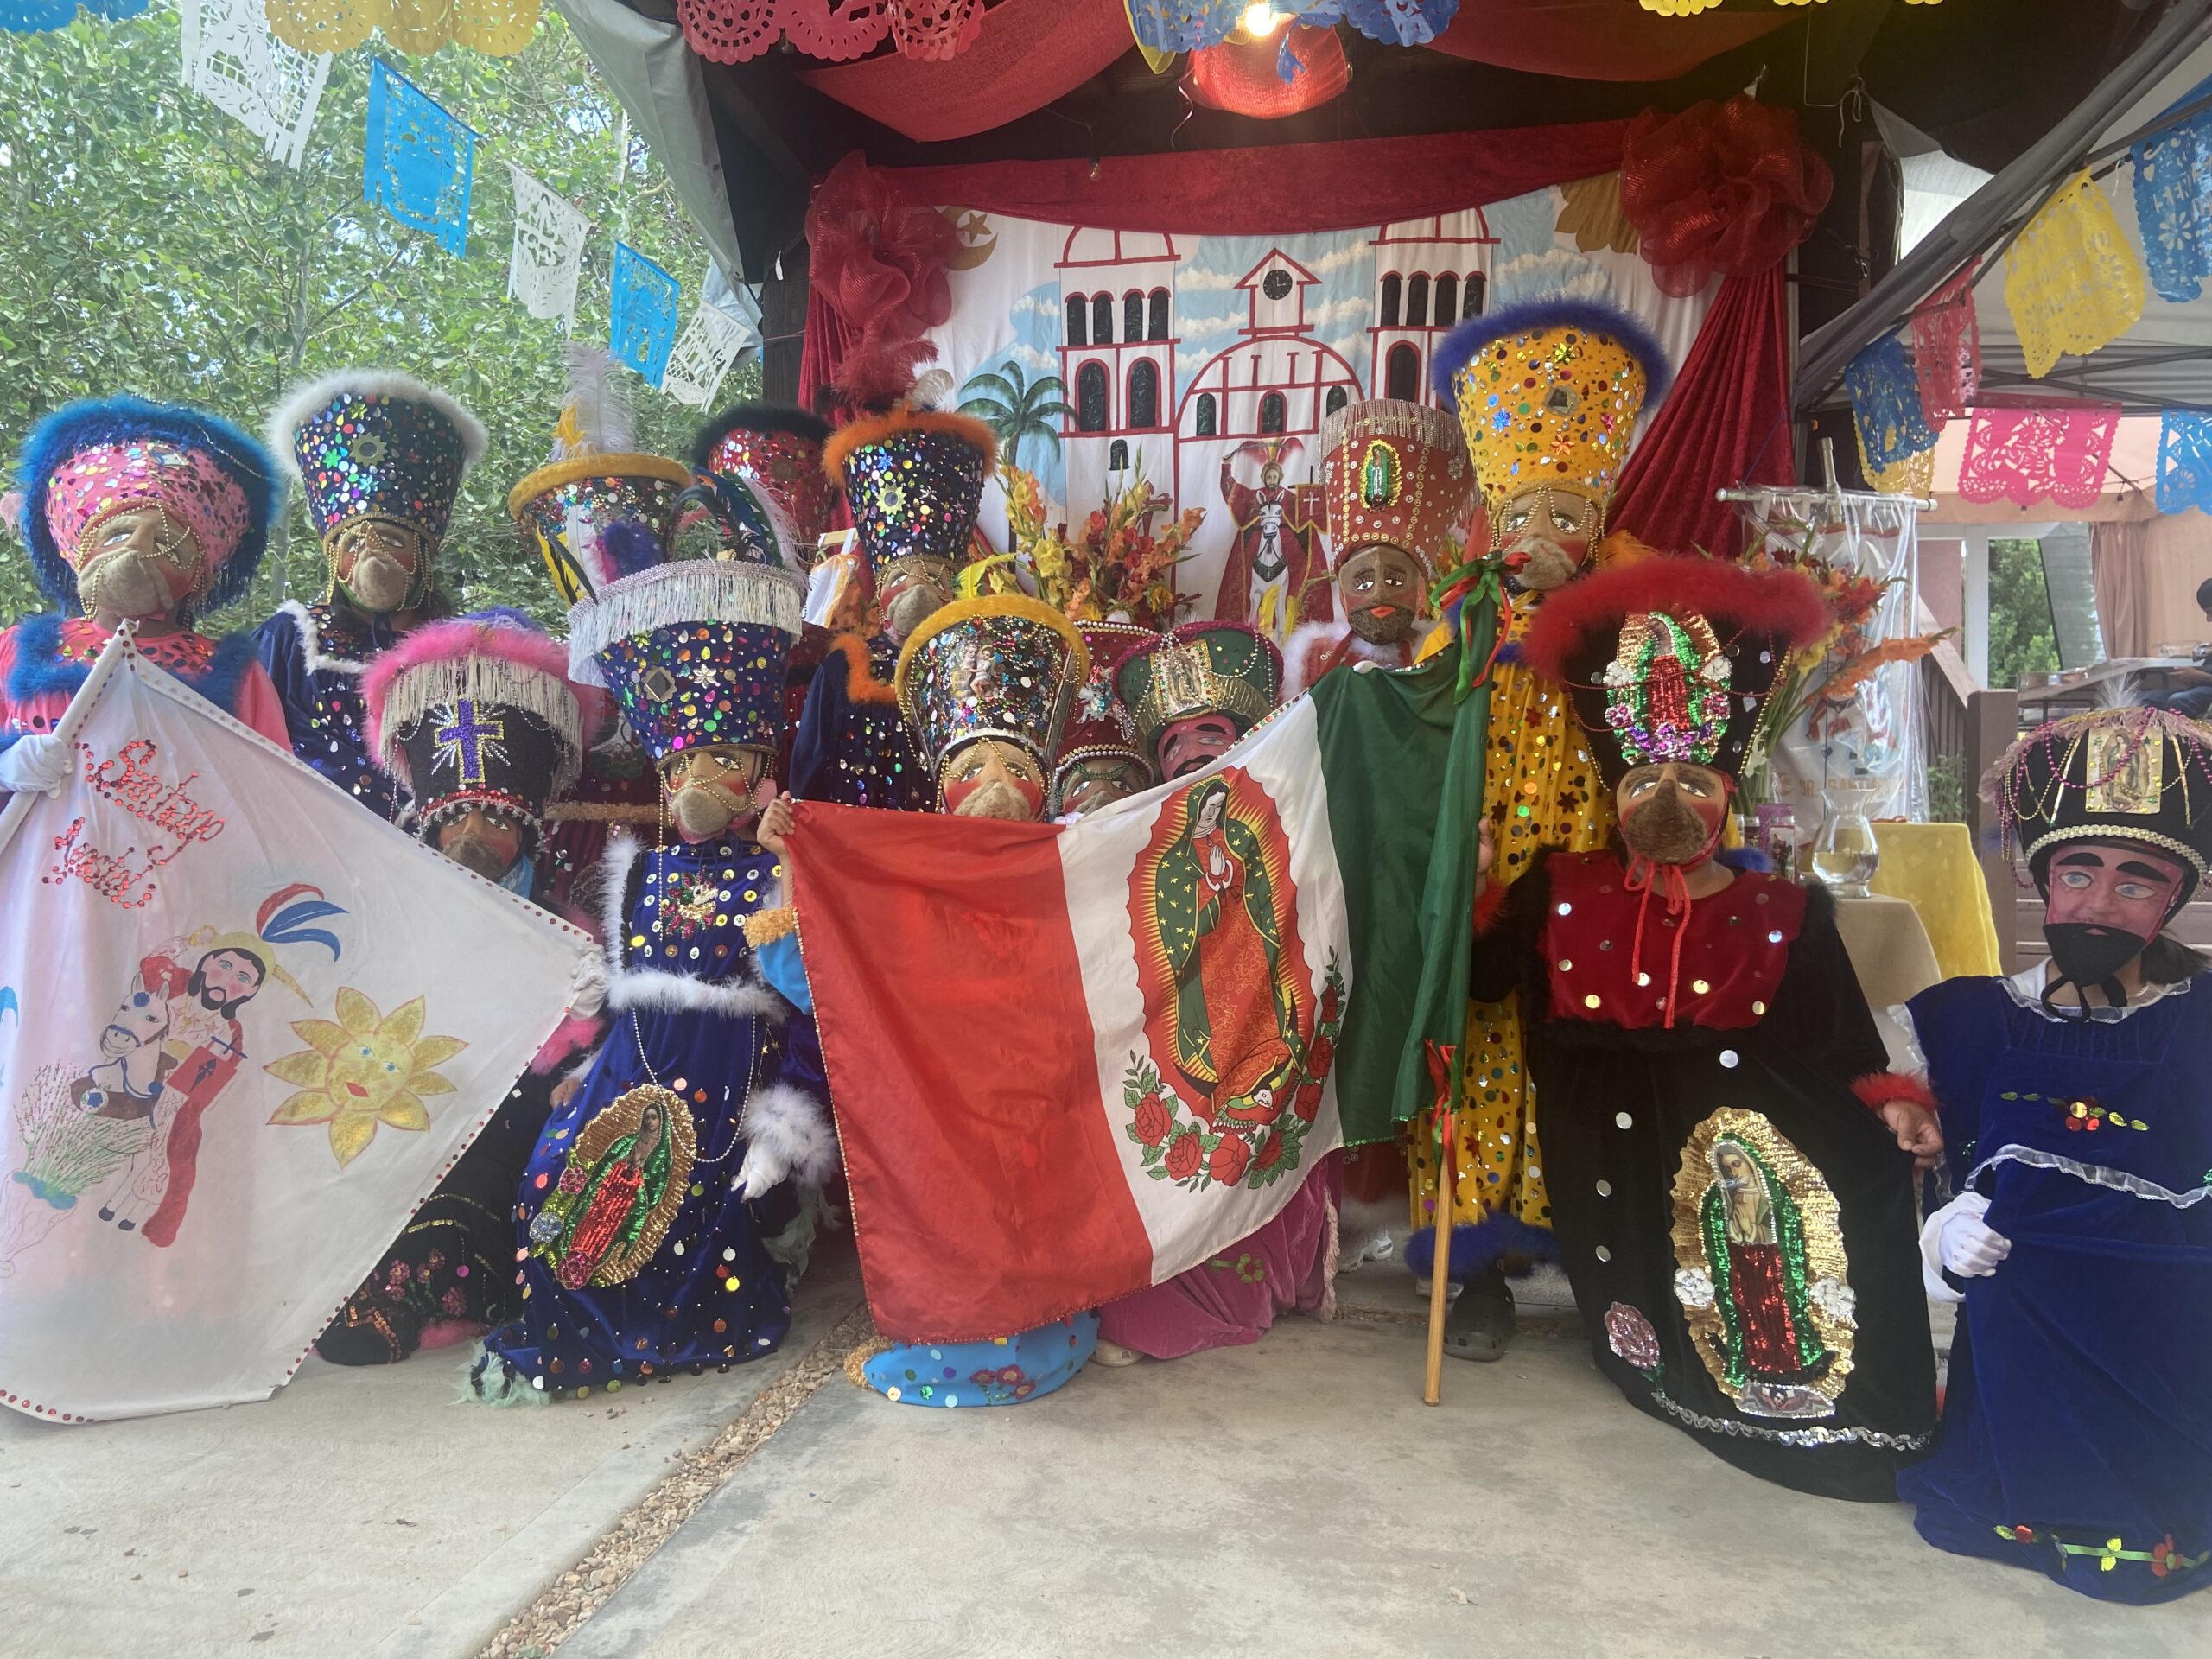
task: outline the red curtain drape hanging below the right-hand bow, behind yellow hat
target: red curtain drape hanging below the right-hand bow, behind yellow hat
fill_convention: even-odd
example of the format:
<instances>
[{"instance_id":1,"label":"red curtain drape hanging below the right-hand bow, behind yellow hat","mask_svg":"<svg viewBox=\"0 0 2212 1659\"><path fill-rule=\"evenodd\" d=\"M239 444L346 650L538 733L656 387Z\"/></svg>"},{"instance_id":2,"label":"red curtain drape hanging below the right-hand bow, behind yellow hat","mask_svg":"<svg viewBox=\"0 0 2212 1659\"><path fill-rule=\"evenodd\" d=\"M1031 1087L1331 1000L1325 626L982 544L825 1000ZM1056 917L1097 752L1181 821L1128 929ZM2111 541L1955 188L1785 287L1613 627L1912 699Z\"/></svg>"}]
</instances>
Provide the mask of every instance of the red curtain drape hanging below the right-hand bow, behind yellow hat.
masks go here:
<instances>
[{"instance_id":1,"label":"red curtain drape hanging below the right-hand bow, behind yellow hat","mask_svg":"<svg viewBox=\"0 0 2212 1659\"><path fill-rule=\"evenodd\" d=\"M1728 276L1621 469L1608 520L1661 553L1736 553L1730 484L1790 484L1790 292L1783 265Z\"/></svg>"}]
</instances>

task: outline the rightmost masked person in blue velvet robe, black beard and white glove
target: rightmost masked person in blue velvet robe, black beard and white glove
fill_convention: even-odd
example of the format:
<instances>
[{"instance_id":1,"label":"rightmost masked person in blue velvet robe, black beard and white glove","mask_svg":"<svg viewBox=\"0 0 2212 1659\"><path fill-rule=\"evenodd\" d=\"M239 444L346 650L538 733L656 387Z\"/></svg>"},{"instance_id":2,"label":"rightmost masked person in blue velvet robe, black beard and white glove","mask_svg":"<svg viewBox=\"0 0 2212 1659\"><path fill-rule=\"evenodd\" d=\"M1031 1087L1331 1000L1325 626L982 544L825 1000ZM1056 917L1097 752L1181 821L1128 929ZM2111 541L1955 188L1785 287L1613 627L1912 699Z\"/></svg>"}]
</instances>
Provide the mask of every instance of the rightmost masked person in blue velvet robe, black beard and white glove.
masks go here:
<instances>
[{"instance_id":1,"label":"rightmost masked person in blue velvet robe, black beard and white glove","mask_svg":"<svg viewBox=\"0 0 2212 1659\"><path fill-rule=\"evenodd\" d=\"M2212 732L2150 708L1993 768L2051 956L1900 1011L1955 1199L1920 1234L1960 1303L1920 1535L2106 1601L2212 1584L2212 982L2172 922L2212 869Z\"/></svg>"}]
</instances>

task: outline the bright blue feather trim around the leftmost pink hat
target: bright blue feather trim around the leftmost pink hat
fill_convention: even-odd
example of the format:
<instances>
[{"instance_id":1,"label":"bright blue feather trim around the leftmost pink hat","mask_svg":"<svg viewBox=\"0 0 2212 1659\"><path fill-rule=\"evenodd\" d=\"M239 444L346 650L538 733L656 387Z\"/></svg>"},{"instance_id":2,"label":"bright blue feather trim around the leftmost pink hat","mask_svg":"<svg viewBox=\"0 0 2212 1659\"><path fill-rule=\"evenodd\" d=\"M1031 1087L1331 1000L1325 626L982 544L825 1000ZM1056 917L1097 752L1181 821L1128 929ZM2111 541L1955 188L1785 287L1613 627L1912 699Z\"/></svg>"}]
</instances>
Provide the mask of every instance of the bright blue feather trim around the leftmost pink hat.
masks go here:
<instances>
[{"instance_id":1,"label":"bright blue feather trim around the leftmost pink hat","mask_svg":"<svg viewBox=\"0 0 2212 1659\"><path fill-rule=\"evenodd\" d=\"M15 458L15 484L22 489L22 540L31 549L31 568L51 604L77 613L77 573L69 568L62 549L46 529L46 482L80 449L104 442L170 442L179 449L201 449L246 491L246 535L237 553L215 573L215 584L201 602L204 611L221 611L246 595L261 553L268 549L270 524L283 511L283 476L261 440L217 414L186 409L177 403L146 398L86 398L64 405L31 427Z\"/></svg>"}]
</instances>

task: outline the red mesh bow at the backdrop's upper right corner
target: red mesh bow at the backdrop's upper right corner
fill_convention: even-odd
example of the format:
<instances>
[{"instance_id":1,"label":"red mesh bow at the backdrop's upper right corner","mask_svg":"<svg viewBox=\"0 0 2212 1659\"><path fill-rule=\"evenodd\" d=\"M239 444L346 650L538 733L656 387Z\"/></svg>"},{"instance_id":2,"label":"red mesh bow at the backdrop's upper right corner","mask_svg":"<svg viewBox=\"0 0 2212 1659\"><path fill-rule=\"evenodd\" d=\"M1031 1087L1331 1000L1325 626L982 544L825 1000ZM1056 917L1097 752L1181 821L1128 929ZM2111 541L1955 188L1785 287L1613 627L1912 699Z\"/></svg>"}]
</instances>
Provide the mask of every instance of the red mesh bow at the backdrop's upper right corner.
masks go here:
<instances>
[{"instance_id":1,"label":"red mesh bow at the backdrop's upper right corner","mask_svg":"<svg viewBox=\"0 0 2212 1659\"><path fill-rule=\"evenodd\" d=\"M1712 272L1754 276L1805 241L1836 179L1796 133L1796 113L1741 93L1681 115L1644 111L1621 148L1621 208L1659 290L1683 296Z\"/></svg>"}]
</instances>

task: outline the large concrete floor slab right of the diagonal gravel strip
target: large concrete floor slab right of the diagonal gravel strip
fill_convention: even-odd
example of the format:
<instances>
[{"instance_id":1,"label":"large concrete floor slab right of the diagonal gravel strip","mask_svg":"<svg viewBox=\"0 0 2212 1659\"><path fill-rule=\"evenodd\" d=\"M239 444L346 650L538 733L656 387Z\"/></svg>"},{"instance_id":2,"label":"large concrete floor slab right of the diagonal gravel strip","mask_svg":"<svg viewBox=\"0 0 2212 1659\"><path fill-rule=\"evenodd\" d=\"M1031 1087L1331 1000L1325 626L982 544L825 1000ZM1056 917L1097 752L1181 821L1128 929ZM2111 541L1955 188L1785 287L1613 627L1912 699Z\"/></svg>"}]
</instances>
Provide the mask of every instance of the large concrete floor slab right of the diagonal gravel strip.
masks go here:
<instances>
[{"instance_id":1,"label":"large concrete floor slab right of the diagonal gravel strip","mask_svg":"<svg viewBox=\"0 0 2212 1659\"><path fill-rule=\"evenodd\" d=\"M1801 1498L1630 1411L1577 1336L1449 1363L1411 1323L1091 1369L1018 1409L830 1383L560 1659L1526 1655L2185 1659L2108 1608Z\"/></svg>"}]
</instances>

